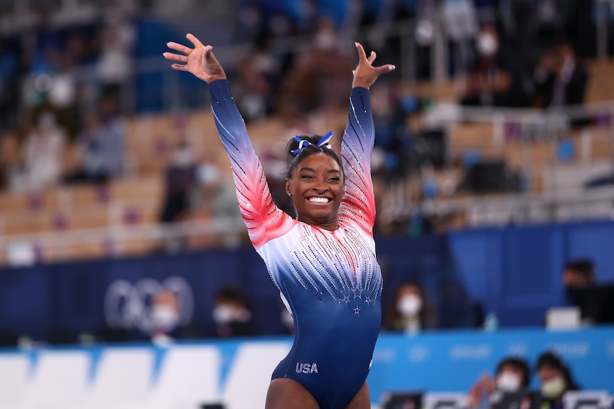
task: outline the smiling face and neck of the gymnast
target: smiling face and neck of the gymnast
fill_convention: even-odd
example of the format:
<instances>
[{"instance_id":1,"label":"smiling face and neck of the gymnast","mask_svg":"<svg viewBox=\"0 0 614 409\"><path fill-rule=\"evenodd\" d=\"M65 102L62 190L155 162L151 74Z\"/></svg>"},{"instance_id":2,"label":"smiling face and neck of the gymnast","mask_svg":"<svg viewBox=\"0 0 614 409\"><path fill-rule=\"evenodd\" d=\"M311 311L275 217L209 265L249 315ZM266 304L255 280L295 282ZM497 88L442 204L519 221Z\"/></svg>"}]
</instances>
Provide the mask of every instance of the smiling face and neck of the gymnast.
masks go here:
<instances>
[{"instance_id":1,"label":"smiling face and neck of the gymnast","mask_svg":"<svg viewBox=\"0 0 614 409\"><path fill-rule=\"evenodd\" d=\"M303 223L336 230L343 198L343 169L331 156L307 156L286 180L286 193L294 201L296 216Z\"/></svg>"}]
</instances>

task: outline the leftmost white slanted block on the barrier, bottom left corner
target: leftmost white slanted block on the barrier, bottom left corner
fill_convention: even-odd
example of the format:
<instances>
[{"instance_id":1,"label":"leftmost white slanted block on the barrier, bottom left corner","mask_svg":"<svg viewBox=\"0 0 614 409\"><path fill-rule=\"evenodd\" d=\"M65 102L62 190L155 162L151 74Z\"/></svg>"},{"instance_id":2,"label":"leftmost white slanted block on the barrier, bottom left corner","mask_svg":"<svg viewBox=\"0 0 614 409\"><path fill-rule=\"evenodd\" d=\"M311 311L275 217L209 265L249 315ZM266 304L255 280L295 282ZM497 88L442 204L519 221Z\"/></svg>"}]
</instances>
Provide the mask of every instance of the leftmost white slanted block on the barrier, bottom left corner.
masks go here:
<instances>
[{"instance_id":1,"label":"leftmost white slanted block on the barrier, bottom left corner","mask_svg":"<svg viewBox=\"0 0 614 409\"><path fill-rule=\"evenodd\" d=\"M29 361L24 354L0 354L0 408L19 408L26 393Z\"/></svg>"}]
</instances>

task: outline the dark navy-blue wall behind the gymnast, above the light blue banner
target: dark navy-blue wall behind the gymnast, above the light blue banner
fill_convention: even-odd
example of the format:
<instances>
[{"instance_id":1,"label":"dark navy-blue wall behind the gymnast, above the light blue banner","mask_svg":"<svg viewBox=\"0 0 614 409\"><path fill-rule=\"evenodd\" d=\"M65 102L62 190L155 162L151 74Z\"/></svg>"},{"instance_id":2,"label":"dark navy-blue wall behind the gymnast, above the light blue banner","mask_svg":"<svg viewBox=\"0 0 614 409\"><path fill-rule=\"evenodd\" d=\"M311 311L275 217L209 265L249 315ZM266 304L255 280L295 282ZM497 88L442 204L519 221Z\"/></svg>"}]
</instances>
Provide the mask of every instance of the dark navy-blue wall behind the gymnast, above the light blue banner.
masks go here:
<instances>
[{"instance_id":1,"label":"dark navy-blue wall behind the gymnast, above the light blue banner","mask_svg":"<svg viewBox=\"0 0 614 409\"><path fill-rule=\"evenodd\" d=\"M378 238L384 309L405 280L423 283L444 328L476 324L475 302L502 326L541 326L546 309L564 304L561 268L573 257L595 260L602 282L614 281L611 221L467 230L422 238ZM191 321L212 324L218 287L241 284L256 307L262 334L281 334L281 304L253 248L189 255L71 262L0 270L0 334L44 337L51 328L98 331L114 282L164 283L179 277L192 292ZM146 300L145 300L146 301ZM146 302L145 302L146 304Z\"/></svg>"}]
</instances>

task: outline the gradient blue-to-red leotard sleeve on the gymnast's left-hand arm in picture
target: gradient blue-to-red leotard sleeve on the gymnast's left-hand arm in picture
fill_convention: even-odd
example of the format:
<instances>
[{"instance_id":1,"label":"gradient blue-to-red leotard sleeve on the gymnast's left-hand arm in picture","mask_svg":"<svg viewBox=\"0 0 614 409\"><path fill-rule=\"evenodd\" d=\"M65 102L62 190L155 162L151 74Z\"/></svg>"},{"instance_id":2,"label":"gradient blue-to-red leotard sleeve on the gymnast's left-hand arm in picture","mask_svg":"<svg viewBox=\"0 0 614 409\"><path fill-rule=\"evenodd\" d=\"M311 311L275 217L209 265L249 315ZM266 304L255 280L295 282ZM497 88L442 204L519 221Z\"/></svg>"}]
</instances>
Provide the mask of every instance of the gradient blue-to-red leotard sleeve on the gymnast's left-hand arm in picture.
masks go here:
<instances>
[{"instance_id":1,"label":"gradient blue-to-red leotard sleeve on the gymnast's left-hand arm in picture","mask_svg":"<svg viewBox=\"0 0 614 409\"><path fill-rule=\"evenodd\" d=\"M292 227L292 218L275 206L264 169L251 144L245 122L234 105L227 80L209 84L211 107L224 148L230 158L236 198L249 240L258 250Z\"/></svg>"}]
</instances>

